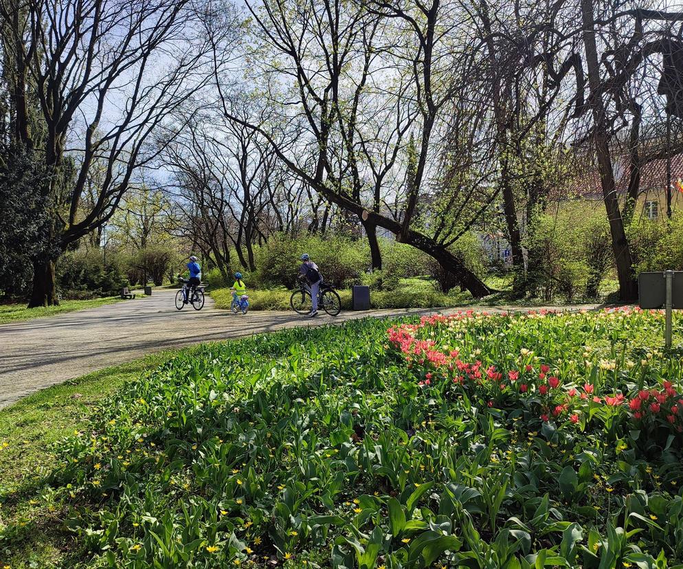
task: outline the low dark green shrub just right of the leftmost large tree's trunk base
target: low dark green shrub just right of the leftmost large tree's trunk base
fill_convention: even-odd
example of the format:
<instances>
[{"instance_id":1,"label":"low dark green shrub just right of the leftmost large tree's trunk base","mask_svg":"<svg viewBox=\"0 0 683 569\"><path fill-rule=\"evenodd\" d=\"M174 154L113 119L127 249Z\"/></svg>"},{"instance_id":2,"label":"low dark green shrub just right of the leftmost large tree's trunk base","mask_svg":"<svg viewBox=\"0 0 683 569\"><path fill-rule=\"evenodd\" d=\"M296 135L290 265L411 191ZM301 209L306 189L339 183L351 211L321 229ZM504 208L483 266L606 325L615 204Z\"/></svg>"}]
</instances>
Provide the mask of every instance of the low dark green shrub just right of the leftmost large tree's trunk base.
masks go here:
<instances>
[{"instance_id":1,"label":"low dark green shrub just right of the leftmost large tree's trunk base","mask_svg":"<svg viewBox=\"0 0 683 569\"><path fill-rule=\"evenodd\" d=\"M115 258L104 257L100 249L67 252L57 265L58 288L64 298L85 299L112 296L128 286Z\"/></svg>"}]
</instances>

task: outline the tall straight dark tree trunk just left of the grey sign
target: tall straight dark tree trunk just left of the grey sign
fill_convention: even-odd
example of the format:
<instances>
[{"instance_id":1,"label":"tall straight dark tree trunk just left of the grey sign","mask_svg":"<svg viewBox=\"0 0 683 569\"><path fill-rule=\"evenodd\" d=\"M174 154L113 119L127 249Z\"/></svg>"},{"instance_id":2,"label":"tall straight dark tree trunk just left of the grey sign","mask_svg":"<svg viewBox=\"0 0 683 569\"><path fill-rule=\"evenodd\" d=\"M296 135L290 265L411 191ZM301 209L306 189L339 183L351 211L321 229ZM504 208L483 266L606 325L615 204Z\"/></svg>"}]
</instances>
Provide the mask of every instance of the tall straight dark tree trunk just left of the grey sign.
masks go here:
<instances>
[{"instance_id":1,"label":"tall straight dark tree trunk just left of the grey sign","mask_svg":"<svg viewBox=\"0 0 683 569\"><path fill-rule=\"evenodd\" d=\"M634 302L638 298L638 285L631 262L631 248L624 230L623 218L616 195L612 159L609 156L609 135L607 134L605 104L602 98L592 0L581 0L581 15L583 16L583 42L586 51L588 85L590 86L590 105L594 122L593 138L598 157L603 200L605 201L605 210L607 210L607 219L609 219L609 232L612 234L612 250L619 280L619 298L623 302Z\"/></svg>"}]
</instances>

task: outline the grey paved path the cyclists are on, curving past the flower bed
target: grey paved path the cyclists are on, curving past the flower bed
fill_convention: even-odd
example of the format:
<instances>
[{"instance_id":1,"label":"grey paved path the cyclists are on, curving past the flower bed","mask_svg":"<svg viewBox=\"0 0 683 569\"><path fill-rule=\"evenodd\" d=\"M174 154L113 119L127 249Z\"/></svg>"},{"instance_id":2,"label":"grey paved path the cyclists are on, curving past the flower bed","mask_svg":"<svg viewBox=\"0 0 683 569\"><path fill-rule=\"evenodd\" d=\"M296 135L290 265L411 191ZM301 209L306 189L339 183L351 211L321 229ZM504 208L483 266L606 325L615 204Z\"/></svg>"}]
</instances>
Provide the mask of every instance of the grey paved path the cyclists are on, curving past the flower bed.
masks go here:
<instances>
[{"instance_id":1,"label":"grey paved path the cyclists are on, curving past the flower bed","mask_svg":"<svg viewBox=\"0 0 683 569\"><path fill-rule=\"evenodd\" d=\"M344 311L315 320L292 312L251 312L246 317L186 306L177 311L175 290L96 309L0 325L0 408L21 397L94 370L123 364L159 350L270 332L291 326L320 326L383 315L434 310Z\"/></svg>"}]
</instances>

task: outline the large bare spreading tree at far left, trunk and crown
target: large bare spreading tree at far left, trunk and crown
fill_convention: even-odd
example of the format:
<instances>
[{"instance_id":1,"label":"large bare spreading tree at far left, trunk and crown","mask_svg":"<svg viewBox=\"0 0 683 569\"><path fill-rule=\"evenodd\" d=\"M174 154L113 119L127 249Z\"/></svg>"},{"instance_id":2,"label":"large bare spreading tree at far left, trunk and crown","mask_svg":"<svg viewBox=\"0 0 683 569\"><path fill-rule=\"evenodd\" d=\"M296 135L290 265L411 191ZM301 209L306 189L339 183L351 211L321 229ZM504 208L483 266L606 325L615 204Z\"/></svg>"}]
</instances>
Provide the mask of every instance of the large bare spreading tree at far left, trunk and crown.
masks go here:
<instances>
[{"instance_id":1,"label":"large bare spreading tree at far left, trunk and crown","mask_svg":"<svg viewBox=\"0 0 683 569\"><path fill-rule=\"evenodd\" d=\"M0 1L14 137L40 150L51 174L37 188L50 215L30 306L56 304L60 254L111 217L137 172L159 155L156 135L172 113L201 100L212 45L201 23L210 17L207 5L188 0ZM221 30L226 48L233 31ZM29 96L38 101L38 126ZM95 164L104 171L85 208Z\"/></svg>"}]
</instances>

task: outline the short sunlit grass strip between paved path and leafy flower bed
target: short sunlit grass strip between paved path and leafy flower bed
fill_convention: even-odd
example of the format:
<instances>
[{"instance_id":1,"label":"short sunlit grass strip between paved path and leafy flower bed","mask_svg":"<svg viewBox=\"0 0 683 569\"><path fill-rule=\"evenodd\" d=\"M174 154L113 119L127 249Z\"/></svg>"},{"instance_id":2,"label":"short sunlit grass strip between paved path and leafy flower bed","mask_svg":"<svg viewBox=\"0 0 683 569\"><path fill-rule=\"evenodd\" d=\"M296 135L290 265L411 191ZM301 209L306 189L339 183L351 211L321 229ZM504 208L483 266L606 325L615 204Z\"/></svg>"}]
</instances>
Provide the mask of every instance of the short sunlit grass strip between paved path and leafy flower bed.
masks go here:
<instances>
[{"instance_id":1,"label":"short sunlit grass strip between paved path and leafy flower bed","mask_svg":"<svg viewBox=\"0 0 683 569\"><path fill-rule=\"evenodd\" d=\"M94 372L0 410L0 567L69 566L64 549L71 536L60 531L62 512L46 485L57 465L54 445L87 425L102 399L169 357L157 353ZM6 546L8 537L19 544Z\"/></svg>"}]
</instances>

